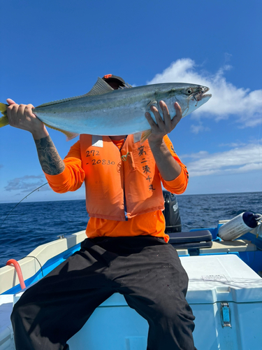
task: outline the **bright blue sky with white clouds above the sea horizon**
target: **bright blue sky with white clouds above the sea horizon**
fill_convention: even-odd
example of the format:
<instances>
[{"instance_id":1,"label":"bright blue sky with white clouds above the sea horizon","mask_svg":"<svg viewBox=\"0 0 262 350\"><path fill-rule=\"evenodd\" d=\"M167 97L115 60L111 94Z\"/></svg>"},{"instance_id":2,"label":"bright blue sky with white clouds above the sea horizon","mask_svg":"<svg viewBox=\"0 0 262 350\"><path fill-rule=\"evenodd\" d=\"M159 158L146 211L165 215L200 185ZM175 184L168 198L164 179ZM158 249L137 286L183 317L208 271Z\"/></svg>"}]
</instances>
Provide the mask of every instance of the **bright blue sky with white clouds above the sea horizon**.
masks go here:
<instances>
[{"instance_id":1,"label":"bright blue sky with white clouds above the sea horizon","mask_svg":"<svg viewBox=\"0 0 262 350\"><path fill-rule=\"evenodd\" d=\"M169 134L189 170L185 195L262 191L262 1L1 1L0 102L38 106L85 94L98 76L194 83L212 98ZM62 158L76 139L49 130ZM0 202L45 183L29 132L0 129ZM27 201L78 200L48 185Z\"/></svg>"}]
</instances>

